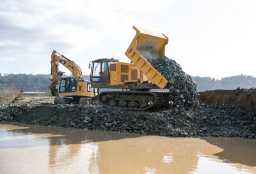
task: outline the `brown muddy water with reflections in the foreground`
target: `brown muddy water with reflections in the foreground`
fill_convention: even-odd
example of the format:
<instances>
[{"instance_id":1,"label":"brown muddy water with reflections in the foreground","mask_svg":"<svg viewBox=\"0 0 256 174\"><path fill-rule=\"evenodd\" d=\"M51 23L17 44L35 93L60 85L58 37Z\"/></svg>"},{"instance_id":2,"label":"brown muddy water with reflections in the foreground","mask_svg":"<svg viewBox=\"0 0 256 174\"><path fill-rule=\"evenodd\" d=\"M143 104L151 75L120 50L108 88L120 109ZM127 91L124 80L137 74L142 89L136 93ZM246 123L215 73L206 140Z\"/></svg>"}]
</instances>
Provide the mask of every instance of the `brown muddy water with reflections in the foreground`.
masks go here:
<instances>
[{"instance_id":1,"label":"brown muddy water with reflections in the foreground","mask_svg":"<svg viewBox=\"0 0 256 174\"><path fill-rule=\"evenodd\" d=\"M256 173L256 140L1 123L0 173Z\"/></svg>"}]
</instances>

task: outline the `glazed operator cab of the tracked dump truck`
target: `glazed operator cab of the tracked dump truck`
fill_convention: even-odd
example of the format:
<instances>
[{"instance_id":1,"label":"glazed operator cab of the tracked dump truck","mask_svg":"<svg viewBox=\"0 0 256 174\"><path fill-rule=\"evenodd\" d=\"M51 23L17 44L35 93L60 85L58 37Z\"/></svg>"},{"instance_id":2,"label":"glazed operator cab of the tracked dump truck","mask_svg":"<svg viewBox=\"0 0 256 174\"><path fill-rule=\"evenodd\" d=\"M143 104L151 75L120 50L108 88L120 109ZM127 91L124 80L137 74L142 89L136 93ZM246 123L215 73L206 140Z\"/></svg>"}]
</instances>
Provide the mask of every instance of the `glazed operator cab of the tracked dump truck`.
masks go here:
<instances>
[{"instance_id":1,"label":"glazed operator cab of the tracked dump truck","mask_svg":"<svg viewBox=\"0 0 256 174\"><path fill-rule=\"evenodd\" d=\"M109 64L118 62L116 59L97 59L92 62L90 81L92 85L109 84ZM89 66L90 67L90 66Z\"/></svg>"}]
</instances>

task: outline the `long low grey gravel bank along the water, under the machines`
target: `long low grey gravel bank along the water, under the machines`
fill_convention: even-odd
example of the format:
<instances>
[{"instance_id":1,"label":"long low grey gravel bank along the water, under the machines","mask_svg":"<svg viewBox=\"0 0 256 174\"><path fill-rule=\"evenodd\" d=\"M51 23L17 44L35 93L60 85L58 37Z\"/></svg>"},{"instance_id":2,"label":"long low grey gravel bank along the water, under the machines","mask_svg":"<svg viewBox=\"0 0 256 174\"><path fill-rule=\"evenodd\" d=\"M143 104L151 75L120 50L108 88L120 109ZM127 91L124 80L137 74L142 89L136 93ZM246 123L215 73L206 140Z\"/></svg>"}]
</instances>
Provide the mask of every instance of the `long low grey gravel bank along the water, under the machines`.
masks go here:
<instances>
[{"instance_id":1,"label":"long low grey gravel bank along the water, under the machines","mask_svg":"<svg viewBox=\"0 0 256 174\"><path fill-rule=\"evenodd\" d=\"M101 105L0 104L0 122L73 127L163 136L256 138L256 115L235 105L200 104L179 115L175 110L134 112Z\"/></svg>"}]
</instances>

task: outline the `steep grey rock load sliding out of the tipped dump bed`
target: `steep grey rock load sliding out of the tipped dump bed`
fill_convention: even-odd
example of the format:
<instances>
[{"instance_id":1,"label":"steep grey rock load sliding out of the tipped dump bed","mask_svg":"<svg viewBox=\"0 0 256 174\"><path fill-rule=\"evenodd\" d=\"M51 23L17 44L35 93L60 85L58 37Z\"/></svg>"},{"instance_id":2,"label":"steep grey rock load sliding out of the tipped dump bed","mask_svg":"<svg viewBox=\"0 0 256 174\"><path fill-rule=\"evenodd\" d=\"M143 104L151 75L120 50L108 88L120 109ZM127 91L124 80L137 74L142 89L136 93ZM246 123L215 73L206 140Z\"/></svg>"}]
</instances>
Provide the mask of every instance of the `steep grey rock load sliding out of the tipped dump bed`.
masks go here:
<instances>
[{"instance_id":1,"label":"steep grey rock load sliding out of the tipped dump bed","mask_svg":"<svg viewBox=\"0 0 256 174\"><path fill-rule=\"evenodd\" d=\"M174 106L177 108L193 108L198 106L196 83L192 80L191 76L182 71L182 68L177 62L167 57L154 59L149 62L168 80Z\"/></svg>"}]
</instances>

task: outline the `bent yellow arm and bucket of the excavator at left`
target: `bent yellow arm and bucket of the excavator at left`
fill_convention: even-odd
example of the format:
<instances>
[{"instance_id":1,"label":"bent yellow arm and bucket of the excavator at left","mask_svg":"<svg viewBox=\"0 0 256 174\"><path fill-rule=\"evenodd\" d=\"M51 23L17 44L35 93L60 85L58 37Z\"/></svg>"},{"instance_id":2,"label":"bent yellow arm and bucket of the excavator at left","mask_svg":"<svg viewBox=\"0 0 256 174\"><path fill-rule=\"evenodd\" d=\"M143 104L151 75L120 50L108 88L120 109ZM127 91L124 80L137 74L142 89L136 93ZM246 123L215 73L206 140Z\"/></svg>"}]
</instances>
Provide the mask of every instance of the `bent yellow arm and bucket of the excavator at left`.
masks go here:
<instances>
[{"instance_id":1,"label":"bent yellow arm and bucket of the excavator at left","mask_svg":"<svg viewBox=\"0 0 256 174\"><path fill-rule=\"evenodd\" d=\"M50 78L50 85L49 85L49 89L51 90L52 96L59 96L57 85L58 85L58 82L61 80L61 76L64 73L64 72L58 71L59 69L58 67L60 63L72 73L72 76L74 76L78 80L83 79L81 68L74 61L71 61L64 55L58 54L58 52L53 50L51 55L52 78Z\"/></svg>"}]
</instances>

